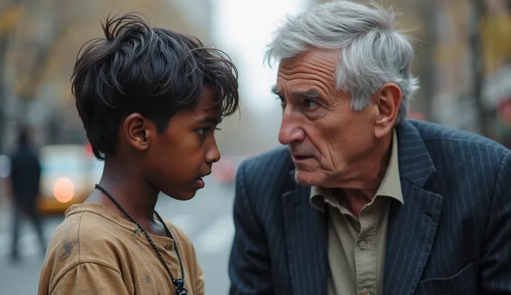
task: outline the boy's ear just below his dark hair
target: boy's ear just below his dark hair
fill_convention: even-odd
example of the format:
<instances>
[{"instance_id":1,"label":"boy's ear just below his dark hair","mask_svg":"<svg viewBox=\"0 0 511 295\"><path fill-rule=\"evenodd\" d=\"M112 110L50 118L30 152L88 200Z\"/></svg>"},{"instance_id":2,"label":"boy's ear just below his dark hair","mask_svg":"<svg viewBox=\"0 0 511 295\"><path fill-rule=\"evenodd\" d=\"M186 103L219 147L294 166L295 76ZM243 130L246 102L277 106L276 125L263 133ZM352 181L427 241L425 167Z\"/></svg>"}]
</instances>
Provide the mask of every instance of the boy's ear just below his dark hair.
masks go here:
<instances>
[{"instance_id":1,"label":"boy's ear just below his dark hair","mask_svg":"<svg viewBox=\"0 0 511 295\"><path fill-rule=\"evenodd\" d=\"M149 138L155 126L142 114L133 113L129 115L123 124L123 133L126 141L140 152L149 148Z\"/></svg>"}]
</instances>

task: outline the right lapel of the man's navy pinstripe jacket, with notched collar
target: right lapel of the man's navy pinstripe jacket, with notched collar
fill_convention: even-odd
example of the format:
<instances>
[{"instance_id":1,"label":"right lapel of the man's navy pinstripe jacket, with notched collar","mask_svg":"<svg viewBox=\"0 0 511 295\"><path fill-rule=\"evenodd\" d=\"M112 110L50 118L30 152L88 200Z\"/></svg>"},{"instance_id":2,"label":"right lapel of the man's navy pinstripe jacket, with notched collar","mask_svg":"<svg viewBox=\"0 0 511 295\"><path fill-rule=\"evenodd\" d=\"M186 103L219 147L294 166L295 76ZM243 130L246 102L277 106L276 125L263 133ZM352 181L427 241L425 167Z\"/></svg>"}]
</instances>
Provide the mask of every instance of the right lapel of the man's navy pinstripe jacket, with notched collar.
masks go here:
<instances>
[{"instance_id":1,"label":"right lapel of the man's navy pinstripe jacket, with notched collar","mask_svg":"<svg viewBox=\"0 0 511 295\"><path fill-rule=\"evenodd\" d=\"M411 295L435 240L442 196L424 189L435 166L417 129L405 122L397 137L404 204L392 204L389 215L384 293Z\"/></svg>"}]
</instances>

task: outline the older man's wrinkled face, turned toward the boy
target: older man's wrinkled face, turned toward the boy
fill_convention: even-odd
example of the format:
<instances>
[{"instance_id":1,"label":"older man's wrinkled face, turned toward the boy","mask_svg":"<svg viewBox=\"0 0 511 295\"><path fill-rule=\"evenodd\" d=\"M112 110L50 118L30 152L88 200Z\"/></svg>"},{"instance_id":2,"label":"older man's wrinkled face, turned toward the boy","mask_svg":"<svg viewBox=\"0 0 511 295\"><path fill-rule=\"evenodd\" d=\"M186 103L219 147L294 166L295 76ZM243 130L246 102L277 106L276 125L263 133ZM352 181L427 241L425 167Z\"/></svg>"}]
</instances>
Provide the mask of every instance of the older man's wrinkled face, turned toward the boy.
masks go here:
<instances>
[{"instance_id":1,"label":"older man's wrinkled face, turned toward the boy","mask_svg":"<svg viewBox=\"0 0 511 295\"><path fill-rule=\"evenodd\" d=\"M335 87L338 59L339 51L312 49L280 62L274 89L283 107L278 140L288 145L302 185L357 177L357 163L375 145L378 107L351 109L351 98Z\"/></svg>"}]
</instances>

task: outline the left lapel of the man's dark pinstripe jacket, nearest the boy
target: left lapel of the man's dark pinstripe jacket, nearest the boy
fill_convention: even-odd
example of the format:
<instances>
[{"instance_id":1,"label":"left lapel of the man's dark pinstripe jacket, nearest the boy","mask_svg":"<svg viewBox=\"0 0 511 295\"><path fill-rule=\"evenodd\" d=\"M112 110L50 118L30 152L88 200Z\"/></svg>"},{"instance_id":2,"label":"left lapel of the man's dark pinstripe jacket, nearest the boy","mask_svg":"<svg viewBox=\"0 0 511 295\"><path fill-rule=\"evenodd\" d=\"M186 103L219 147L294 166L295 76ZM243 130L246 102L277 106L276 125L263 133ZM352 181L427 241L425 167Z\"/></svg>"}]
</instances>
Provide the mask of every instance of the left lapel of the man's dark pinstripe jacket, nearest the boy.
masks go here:
<instances>
[{"instance_id":1,"label":"left lapel of the man's dark pinstripe jacket, nearest the boy","mask_svg":"<svg viewBox=\"0 0 511 295\"><path fill-rule=\"evenodd\" d=\"M294 170L290 173L294 179ZM310 188L283 194L287 262L294 295L326 294L328 271L324 214L309 204Z\"/></svg>"}]
</instances>

